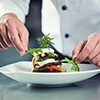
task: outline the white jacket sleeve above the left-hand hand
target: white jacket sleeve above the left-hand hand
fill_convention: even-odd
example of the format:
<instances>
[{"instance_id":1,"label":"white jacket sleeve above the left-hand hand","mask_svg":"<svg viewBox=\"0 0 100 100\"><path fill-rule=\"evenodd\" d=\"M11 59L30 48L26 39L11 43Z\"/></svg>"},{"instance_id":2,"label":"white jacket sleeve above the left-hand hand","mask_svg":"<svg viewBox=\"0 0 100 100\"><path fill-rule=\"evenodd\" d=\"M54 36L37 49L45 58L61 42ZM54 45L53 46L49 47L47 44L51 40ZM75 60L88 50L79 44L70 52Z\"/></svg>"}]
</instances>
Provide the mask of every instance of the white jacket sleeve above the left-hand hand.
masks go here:
<instances>
[{"instance_id":1,"label":"white jacket sleeve above the left-hand hand","mask_svg":"<svg viewBox=\"0 0 100 100\"><path fill-rule=\"evenodd\" d=\"M14 13L25 23L25 16L29 11L30 0L0 0L0 17L7 13Z\"/></svg>"}]
</instances>

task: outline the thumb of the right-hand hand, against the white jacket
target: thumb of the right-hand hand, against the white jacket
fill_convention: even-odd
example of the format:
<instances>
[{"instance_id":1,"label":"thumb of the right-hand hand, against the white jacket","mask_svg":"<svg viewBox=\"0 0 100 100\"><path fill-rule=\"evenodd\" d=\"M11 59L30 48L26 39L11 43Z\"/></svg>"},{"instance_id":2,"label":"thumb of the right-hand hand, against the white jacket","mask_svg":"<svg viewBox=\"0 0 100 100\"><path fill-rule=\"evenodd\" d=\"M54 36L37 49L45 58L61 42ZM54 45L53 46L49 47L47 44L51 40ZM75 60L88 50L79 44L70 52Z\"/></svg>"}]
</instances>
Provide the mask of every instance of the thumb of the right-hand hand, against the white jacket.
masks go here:
<instances>
[{"instance_id":1,"label":"thumb of the right-hand hand, against the white jacket","mask_svg":"<svg viewBox=\"0 0 100 100\"><path fill-rule=\"evenodd\" d=\"M72 60L74 60L77 57L77 55L82 51L86 42L87 42L87 40L83 40L83 41L80 41L80 42L77 43L74 50L72 51L72 55L73 55Z\"/></svg>"}]
</instances>

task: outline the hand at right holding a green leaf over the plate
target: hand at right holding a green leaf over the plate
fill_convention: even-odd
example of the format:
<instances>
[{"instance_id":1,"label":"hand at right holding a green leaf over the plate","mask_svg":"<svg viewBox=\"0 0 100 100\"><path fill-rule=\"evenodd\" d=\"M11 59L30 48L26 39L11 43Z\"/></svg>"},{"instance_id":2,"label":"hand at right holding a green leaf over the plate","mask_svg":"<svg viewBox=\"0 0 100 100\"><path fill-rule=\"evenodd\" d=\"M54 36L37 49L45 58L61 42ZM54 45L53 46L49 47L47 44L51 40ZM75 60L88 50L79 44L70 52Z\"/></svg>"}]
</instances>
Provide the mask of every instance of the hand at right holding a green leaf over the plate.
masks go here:
<instances>
[{"instance_id":1,"label":"hand at right holding a green leaf over the plate","mask_svg":"<svg viewBox=\"0 0 100 100\"><path fill-rule=\"evenodd\" d=\"M72 52L75 63L86 60L100 67L100 34L93 33L87 39L77 43Z\"/></svg>"}]
</instances>

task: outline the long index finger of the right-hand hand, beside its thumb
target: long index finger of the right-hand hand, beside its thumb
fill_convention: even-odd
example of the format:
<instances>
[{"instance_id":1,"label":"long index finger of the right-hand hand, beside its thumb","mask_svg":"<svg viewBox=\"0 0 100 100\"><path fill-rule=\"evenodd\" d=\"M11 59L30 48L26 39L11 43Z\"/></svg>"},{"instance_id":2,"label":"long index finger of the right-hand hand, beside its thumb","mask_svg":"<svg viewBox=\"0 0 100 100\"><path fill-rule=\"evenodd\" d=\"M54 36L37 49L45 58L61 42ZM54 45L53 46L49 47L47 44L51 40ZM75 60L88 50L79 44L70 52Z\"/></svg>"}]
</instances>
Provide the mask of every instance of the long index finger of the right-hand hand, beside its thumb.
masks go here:
<instances>
[{"instance_id":1,"label":"long index finger of the right-hand hand, beside its thumb","mask_svg":"<svg viewBox=\"0 0 100 100\"><path fill-rule=\"evenodd\" d=\"M93 49L97 45L99 38L100 36L98 36L98 34L96 33L89 36L86 45L84 46L84 48L82 49L82 51L79 53L79 55L77 56L75 60L76 64L81 63L90 55L90 53L93 51Z\"/></svg>"}]
</instances>

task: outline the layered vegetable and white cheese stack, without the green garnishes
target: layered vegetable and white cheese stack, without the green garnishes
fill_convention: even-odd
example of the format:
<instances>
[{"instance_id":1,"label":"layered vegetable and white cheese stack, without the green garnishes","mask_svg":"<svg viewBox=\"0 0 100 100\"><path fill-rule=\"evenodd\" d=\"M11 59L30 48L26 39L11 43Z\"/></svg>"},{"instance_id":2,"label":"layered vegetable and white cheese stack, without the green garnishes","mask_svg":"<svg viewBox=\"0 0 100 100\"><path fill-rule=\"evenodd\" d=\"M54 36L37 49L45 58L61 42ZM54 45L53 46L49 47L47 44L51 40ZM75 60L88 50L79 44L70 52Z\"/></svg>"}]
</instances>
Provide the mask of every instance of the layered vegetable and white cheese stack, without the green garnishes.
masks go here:
<instances>
[{"instance_id":1,"label":"layered vegetable and white cheese stack, without the green garnishes","mask_svg":"<svg viewBox=\"0 0 100 100\"><path fill-rule=\"evenodd\" d=\"M31 72L65 72L62 63L55 60L58 55L53 49L42 48L41 50L42 52L38 54L33 53Z\"/></svg>"}]
</instances>

